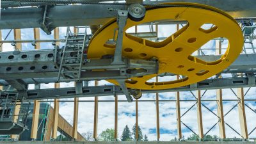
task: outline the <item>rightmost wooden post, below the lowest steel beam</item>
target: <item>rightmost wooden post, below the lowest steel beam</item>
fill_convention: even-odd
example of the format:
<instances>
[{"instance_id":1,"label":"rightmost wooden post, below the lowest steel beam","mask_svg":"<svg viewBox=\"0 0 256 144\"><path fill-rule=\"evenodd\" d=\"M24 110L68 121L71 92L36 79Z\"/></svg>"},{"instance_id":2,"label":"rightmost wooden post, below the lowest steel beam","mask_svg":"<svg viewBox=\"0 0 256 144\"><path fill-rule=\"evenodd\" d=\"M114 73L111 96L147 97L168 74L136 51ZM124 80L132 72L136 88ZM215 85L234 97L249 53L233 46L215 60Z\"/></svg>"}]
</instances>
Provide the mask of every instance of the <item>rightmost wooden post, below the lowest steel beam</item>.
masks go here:
<instances>
[{"instance_id":1,"label":"rightmost wooden post, below the lowest steel beam","mask_svg":"<svg viewBox=\"0 0 256 144\"><path fill-rule=\"evenodd\" d=\"M248 139L248 131L247 131L247 124L246 124L245 109L244 109L244 89L243 88L237 88L237 97L240 100L238 104L238 113L239 113L241 136L243 136L244 139Z\"/></svg>"}]
</instances>

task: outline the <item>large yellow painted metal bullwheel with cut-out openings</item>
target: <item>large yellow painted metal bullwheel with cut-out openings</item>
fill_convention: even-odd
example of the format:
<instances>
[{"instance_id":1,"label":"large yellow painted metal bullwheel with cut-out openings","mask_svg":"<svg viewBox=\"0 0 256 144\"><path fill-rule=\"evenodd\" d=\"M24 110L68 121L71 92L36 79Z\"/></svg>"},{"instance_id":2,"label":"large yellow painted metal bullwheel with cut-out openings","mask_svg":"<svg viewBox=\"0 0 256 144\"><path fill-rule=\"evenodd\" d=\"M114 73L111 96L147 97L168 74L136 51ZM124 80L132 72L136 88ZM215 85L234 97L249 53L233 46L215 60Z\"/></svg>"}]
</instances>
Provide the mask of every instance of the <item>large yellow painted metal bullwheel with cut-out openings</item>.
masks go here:
<instances>
[{"instance_id":1,"label":"large yellow painted metal bullwheel with cut-out openings","mask_svg":"<svg viewBox=\"0 0 256 144\"><path fill-rule=\"evenodd\" d=\"M128 88L160 90L193 84L214 76L227 68L242 51L243 35L241 29L236 20L227 13L202 4L168 4L179 6L150 8L147 10L145 18L140 22L128 19L124 31L145 22L168 19L187 20L188 24L162 42L151 42L124 33L122 56L143 60L156 57L159 60L158 74L170 72L184 77L175 81L164 82L148 82L157 74L132 77L126 81ZM201 26L204 24L214 24L214 27L203 29ZM115 44L111 45L106 42L113 38L116 39L117 34L114 36L114 31L117 28L116 19L113 19L95 33L89 45L88 58L100 59L104 55L115 53ZM218 37L228 39L227 51L219 60L204 61L191 56L209 40ZM118 84L115 80L108 81Z\"/></svg>"}]
</instances>

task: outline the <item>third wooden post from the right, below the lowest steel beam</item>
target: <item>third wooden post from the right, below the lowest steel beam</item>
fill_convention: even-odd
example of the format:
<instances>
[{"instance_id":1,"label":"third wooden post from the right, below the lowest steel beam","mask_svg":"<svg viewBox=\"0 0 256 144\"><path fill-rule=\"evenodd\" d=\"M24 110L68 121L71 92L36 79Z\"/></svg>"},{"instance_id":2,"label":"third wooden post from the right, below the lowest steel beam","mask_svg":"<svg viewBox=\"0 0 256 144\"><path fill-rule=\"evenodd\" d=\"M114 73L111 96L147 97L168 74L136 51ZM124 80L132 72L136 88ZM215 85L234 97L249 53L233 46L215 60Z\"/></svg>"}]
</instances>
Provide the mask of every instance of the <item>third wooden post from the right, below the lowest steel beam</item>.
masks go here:
<instances>
[{"instance_id":1,"label":"third wooden post from the right, below the lowest steel beam","mask_svg":"<svg viewBox=\"0 0 256 144\"><path fill-rule=\"evenodd\" d=\"M197 99L197 124L198 124L198 136L200 139L204 138L203 131L203 120L202 120L202 109L201 109L201 91L196 91L196 99Z\"/></svg>"}]
</instances>

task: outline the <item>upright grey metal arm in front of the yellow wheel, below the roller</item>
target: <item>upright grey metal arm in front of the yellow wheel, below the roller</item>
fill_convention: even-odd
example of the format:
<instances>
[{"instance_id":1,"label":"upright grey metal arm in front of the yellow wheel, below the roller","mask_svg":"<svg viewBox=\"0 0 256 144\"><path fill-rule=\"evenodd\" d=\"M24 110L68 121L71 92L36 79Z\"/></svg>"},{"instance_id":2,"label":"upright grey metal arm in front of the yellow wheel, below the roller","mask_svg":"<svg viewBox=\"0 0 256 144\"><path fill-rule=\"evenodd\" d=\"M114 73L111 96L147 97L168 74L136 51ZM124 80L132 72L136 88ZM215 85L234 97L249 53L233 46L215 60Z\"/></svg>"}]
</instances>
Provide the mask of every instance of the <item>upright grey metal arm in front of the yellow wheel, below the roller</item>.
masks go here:
<instances>
[{"instance_id":1,"label":"upright grey metal arm in front of the yellow wheel, below the roller","mask_svg":"<svg viewBox=\"0 0 256 144\"><path fill-rule=\"evenodd\" d=\"M124 27L128 17L128 12L127 10L118 10L117 14L118 14L118 19L117 19L118 35L116 40L114 60L111 63L112 65L124 64L124 61L122 61L122 45L123 45Z\"/></svg>"}]
</instances>

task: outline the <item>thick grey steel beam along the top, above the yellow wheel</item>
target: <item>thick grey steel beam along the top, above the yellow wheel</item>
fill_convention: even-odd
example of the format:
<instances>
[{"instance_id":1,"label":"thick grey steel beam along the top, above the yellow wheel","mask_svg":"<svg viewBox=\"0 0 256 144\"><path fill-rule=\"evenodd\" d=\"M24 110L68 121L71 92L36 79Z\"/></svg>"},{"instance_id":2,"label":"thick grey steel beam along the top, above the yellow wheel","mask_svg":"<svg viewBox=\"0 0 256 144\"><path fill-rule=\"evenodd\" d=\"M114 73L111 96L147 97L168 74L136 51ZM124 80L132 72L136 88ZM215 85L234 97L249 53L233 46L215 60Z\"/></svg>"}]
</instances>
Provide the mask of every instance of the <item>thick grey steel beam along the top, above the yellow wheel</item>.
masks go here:
<instances>
[{"instance_id":1,"label":"thick grey steel beam along the top, above the yellow wheel","mask_svg":"<svg viewBox=\"0 0 256 144\"><path fill-rule=\"evenodd\" d=\"M175 0L169 0L157 3L174 1ZM250 19L255 19L256 17L256 4L254 0L183 1L208 4L220 8L236 18L249 17ZM70 3L74 3L74 1L70 1ZM152 4L152 2L145 2L145 4ZM113 4L77 4L47 6L46 10L45 6L38 8L23 7L2 9L0 29L42 28L42 26L45 26L48 31L52 31L52 29L60 26L100 25L105 24L109 19L115 17L113 13L109 12L109 8L113 10L124 10L125 6ZM45 23L43 23L44 13L46 16Z\"/></svg>"}]
</instances>

